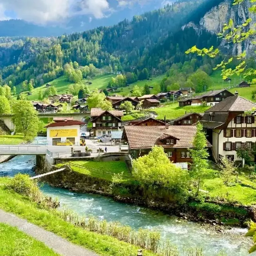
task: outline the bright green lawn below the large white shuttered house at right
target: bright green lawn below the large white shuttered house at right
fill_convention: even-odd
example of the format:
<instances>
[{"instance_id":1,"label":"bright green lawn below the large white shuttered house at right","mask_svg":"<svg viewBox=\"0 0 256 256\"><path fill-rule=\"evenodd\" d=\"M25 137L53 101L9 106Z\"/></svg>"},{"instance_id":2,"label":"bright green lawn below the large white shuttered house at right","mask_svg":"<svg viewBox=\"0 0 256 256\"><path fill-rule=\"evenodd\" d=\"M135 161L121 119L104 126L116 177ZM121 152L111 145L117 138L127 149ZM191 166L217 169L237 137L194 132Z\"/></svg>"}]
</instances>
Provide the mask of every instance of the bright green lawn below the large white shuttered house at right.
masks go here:
<instances>
[{"instance_id":1,"label":"bright green lawn below the large white shuttered house at right","mask_svg":"<svg viewBox=\"0 0 256 256\"><path fill-rule=\"evenodd\" d=\"M213 198L228 197L241 204L256 204L256 182L246 176L239 176L239 180L240 183L234 183L234 186L226 186L222 178L211 178L204 182L204 190L209 191L209 195Z\"/></svg>"}]
</instances>

